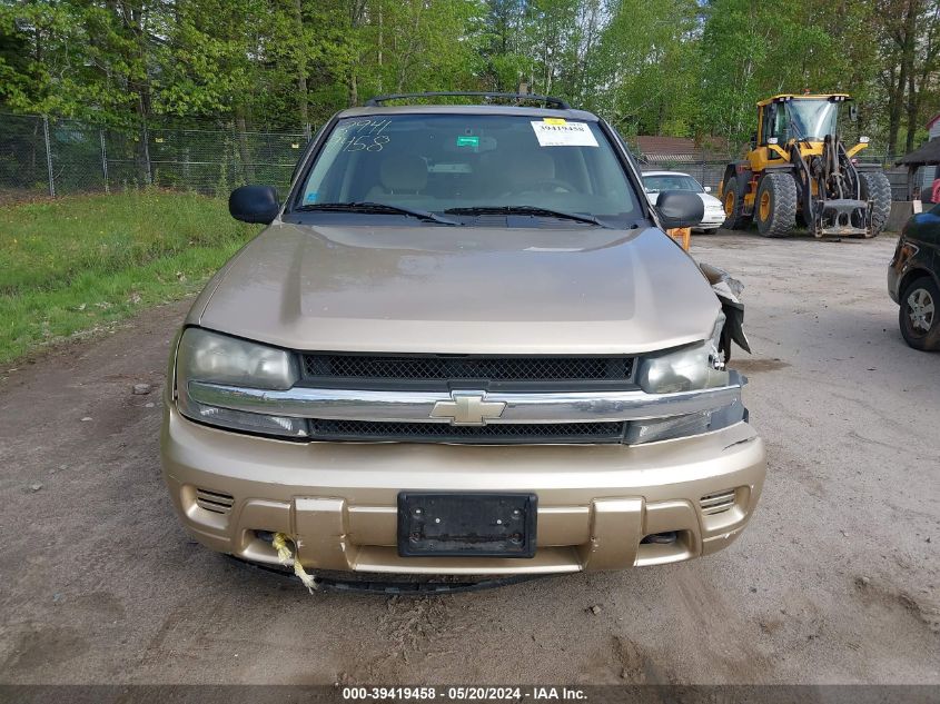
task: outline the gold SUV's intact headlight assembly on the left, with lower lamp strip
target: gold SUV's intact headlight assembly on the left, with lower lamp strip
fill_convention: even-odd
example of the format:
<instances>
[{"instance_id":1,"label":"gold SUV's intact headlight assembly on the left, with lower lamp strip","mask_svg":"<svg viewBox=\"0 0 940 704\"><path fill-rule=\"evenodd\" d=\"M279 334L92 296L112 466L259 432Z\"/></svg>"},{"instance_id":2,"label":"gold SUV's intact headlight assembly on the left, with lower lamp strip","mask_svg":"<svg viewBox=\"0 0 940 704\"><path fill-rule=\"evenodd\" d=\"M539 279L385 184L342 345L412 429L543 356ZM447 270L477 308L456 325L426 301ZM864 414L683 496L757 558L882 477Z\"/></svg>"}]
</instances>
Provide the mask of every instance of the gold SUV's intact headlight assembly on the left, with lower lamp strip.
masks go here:
<instances>
[{"instance_id":1,"label":"gold SUV's intact headlight assembly on the left, with lower lamp strip","mask_svg":"<svg viewBox=\"0 0 940 704\"><path fill-rule=\"evenodd\" d=\"M306 437L307 422L303 418L209 406L189 396L190 381L284 390L299 378L297 358L283 349L200 328L187 328L179 340L176 361L178 405L180 413L194 420L249 433Z\"/></svg>"}]
</instances>

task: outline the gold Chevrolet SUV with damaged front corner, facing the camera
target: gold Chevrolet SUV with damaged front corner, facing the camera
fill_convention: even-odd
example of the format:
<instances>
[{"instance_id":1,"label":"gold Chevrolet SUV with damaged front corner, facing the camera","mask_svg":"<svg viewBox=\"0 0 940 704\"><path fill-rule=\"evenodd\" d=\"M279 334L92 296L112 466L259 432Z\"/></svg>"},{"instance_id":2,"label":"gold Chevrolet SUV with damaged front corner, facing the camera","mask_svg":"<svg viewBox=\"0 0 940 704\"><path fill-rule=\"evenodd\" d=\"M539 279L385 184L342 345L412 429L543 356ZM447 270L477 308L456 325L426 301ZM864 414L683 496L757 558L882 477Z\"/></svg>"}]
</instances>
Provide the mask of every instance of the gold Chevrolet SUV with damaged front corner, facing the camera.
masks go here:
<instances>
[{"instance_id":1,"label":"gold Chevrolet SUV with damaged front corner, facing the camera","mask_svg":"<svg viewBox=\"0 0 940 704\"><path fill-rule=\"evenodd\" d=\"M701 199L650 205L616 132L561 100L436 96L336 115L283 202L232 192L267 228L172 346L162 467L182 524L256 563L286 541L314 573L728 546L765 459L724 364L740 306L664 234Z\"/></svg>"}]
</instances>

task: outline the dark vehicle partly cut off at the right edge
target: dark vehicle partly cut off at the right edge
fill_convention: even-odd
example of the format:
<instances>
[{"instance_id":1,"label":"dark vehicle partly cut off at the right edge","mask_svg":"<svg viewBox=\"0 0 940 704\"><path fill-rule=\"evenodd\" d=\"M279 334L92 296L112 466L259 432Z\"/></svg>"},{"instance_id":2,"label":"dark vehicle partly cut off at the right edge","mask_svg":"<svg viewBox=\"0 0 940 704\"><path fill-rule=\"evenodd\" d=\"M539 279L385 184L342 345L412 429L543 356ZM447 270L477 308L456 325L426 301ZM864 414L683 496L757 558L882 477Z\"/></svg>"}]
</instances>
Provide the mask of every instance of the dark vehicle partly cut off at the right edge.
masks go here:
<instances>
[{"instance_id":1,"label":"dark vehicle partly cut off at the right edge","mask_svg":"<svg viewBox=\"0 0 940 704\"><path fill-rule=\"evenodd\" d=\"M888 292L900 304L899 324L914 349L940 349L940 205L904 225L888 267Z\"/></svg>"}]
</instances>

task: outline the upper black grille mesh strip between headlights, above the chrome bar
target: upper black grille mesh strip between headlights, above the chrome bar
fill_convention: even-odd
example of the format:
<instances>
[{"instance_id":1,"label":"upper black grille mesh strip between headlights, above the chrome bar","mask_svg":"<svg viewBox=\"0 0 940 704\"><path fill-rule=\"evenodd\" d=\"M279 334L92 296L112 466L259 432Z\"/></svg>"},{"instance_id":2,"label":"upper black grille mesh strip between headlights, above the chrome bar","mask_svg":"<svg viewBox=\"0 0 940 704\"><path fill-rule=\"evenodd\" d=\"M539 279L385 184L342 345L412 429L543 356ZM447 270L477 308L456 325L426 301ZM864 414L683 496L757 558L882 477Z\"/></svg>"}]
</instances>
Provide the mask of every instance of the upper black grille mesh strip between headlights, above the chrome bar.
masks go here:
<instances>
[{"instance_id":1,"label":"upper black grille mesh strip between headlights, above the chrome bar","mask_svg":"<svg viewBox=\"0 0 940 704\"><path fill-rule=\"evenodd\" d=\"M437 357L305 355L308 377L445 381L626 380L627 357Z\"/></svg>"}]
</instances>

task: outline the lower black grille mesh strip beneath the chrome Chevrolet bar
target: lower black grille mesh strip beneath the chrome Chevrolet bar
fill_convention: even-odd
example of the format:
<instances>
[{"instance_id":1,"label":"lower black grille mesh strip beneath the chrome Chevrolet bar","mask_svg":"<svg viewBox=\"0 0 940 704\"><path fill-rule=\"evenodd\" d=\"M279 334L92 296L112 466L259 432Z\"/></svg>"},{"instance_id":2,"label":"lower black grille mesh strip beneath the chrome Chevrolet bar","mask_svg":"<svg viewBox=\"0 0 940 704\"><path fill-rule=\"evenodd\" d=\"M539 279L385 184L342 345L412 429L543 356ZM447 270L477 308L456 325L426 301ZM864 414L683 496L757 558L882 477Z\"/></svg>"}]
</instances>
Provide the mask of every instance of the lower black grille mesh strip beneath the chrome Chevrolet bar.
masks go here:
<instances>
[{"instance_id":1,"label":"lower black grille mesh strip beneath the chrome Chevrolet bar","mask_svg":"<svg viewBox=\"0 0 940 704\"><path fill-rule=\"evenodd\" d=\"M620 443L623 423L518 423L459 426L447 423L310 420L310 437L320 440L395 440L408 443Z\"/></svg>"}]
</instances>

